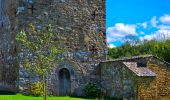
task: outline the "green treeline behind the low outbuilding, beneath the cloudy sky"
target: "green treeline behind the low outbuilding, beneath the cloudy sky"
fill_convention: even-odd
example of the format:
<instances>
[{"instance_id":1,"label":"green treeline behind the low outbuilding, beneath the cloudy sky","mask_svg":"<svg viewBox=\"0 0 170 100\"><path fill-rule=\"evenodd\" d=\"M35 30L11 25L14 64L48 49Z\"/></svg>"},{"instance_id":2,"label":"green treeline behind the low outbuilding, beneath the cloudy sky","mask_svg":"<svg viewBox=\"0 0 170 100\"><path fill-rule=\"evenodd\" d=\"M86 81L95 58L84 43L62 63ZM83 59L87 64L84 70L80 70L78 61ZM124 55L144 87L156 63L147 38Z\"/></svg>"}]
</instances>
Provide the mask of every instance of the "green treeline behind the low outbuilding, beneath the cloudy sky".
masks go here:
<instances>
[{"instance_id":1,"label":"green treeline behind the low outbuilding, beneath the cloudy sky","mask_svg":"<svg viewBox=\"0 0 170 100\"><path fill-rule=\"evenodd\" d=\"M135 45L132 45L131 42L126 42L122 46L109 48L108 50L108 55L113 59L150 54L170 63L170 39L136 42Z\"/></svg>"}]
</instances>

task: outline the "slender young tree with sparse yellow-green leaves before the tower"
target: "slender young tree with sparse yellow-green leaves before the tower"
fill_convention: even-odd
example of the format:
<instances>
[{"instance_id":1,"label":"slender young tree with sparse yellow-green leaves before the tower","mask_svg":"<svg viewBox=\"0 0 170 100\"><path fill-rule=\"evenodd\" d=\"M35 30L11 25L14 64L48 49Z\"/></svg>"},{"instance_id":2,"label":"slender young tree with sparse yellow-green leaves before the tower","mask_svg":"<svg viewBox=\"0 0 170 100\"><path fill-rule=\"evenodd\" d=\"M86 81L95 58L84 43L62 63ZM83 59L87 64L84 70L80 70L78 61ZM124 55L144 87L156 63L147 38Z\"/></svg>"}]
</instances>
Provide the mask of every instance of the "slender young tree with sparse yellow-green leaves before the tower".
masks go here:
<instances>
[{"instance_id":1,"label":"slender young tree with sparse yellow-green leaves before the tower","mask_svg":"<svg viewBox=\"0 0 170 100\"><path fill-rule=\"evenodd\" d=\"M58 41L55 40L51 25L37 30L34 25L30 24L26 31L21 31L16 35L16 40L21 44L21 52L26 54L21 64L24 68L35 71L41 76L43 96L44 100L47 100L47 73L54 68L56 62L62 60L59 55L63 51Z\"/></svg>"}]
</instances>

